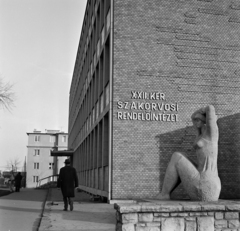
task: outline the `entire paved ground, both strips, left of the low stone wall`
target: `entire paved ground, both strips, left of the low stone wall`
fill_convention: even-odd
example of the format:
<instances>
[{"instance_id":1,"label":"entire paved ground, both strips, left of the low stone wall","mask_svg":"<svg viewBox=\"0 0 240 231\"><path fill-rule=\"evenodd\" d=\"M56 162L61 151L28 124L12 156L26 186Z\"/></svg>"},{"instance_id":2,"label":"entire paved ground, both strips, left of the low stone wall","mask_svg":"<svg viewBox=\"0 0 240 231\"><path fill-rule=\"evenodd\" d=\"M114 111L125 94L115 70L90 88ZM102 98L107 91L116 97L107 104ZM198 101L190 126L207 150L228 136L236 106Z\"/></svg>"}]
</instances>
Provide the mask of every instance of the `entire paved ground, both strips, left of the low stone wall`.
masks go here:
<instances>
[{"instance_id":1,"label":"entire paved ground, both strips, left of the low stone wall","mask_svg":"<svg viewBox=\"0 0 240 231\"><path fill-rule=\"evenodd\" d=\"M45 206L44 206L45 205ZM113 205L76 192L74 210L63 211L59 189L21 189L0 197L0 231L114 231Z\"/></svg>"}]
</instances>

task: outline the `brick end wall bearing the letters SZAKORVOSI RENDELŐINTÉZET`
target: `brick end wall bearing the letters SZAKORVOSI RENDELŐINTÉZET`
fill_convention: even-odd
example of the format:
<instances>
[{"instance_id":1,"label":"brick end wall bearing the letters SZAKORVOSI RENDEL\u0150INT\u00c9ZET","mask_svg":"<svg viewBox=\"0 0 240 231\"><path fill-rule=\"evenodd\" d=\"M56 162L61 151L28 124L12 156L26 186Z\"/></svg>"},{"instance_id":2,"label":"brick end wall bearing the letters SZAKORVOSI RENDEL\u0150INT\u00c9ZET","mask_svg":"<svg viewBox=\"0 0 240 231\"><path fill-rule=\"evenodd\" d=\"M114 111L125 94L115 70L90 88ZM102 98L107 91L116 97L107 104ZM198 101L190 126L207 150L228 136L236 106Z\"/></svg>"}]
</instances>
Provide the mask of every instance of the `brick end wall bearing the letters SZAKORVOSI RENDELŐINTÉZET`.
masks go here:
<instances>
[{"instance_id":1,"label":"brick end wall bearing the letters SZAKORVOSI RENDEL\u0150INT\u00c9ZET","mask_svg":"<svg viewBox=\"0 0 240 231\"><path fill-rule=\"evenodd\" d=\"M195 158L190 116L207 104L219 118L221 198L239 198L239 36L239 1L114 1L113 199L154 197L174 151ZM181 186L173 197L186 197Z\"/></svg>"}]
</instances>

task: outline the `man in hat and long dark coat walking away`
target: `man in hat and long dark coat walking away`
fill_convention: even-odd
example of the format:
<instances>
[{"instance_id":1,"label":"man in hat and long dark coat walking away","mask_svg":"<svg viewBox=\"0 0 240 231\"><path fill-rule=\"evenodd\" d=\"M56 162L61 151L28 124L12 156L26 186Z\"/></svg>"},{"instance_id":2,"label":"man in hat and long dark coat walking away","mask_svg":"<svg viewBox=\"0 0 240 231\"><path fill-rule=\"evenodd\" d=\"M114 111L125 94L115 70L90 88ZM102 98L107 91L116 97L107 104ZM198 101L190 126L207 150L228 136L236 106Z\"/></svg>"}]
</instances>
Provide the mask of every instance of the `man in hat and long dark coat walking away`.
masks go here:
<instances>
[{"instance_id":1,"label":"man in hat and long dark coat walking away","mask_svg":"<svg viewBox=\"0 0 240 231\"><path fill-rule=\"evenodd\" d=\"M64 211L68 210L68 204L70 205L70 210L73 211L73 197L75 197L75 188L78 187L78 177L75 168L70 166L70 160L65 160L65 166L60 169L58 178L58 188L61 188L63 201L64 201Z\"/></svg>"}]
</instances>

